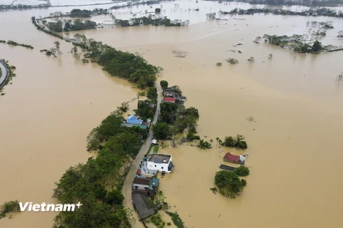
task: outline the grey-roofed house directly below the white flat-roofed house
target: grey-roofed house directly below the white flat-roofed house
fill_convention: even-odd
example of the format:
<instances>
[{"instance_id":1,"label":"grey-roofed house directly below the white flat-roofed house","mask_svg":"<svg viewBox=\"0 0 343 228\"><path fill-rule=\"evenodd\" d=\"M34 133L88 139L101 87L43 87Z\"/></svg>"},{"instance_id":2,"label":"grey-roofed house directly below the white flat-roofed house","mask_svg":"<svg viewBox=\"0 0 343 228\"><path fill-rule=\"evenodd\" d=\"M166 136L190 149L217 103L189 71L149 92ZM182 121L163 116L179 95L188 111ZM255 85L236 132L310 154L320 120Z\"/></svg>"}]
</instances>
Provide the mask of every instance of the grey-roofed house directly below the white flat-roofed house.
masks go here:
<instances>
[{"instance_id":1,"label":"grey-roofed house directly below the white flat-roofed house","mask_svg":"<svg viewBox=\"0 0 343 228\"><path fill-rule=\"evenodd\" d=\"M134 182L132 182L132 193L146 195L151 199L154 199L158 188L159 179L155 177L136 176Z\"/></svg>"}]
</instances>

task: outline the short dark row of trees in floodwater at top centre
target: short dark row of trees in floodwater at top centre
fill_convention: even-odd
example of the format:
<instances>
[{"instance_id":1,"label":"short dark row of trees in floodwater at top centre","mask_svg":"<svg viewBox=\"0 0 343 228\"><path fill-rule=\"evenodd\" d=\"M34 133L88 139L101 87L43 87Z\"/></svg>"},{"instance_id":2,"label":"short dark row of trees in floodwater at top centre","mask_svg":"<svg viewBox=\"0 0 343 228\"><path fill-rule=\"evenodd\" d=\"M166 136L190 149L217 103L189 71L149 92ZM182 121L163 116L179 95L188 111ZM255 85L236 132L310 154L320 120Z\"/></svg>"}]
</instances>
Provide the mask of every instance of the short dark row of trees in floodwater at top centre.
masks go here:
<instances>
[{"instance_id":1,"label":"short dark row of trees in floodwater at top centre","mask_svg":"<svg viewBox=\"0 0 343 228\"><path fill-rule=\"evenodd\" d=\"M172 21L171 19L168 19L166 16L163 18L157 18L153 19L152 16L142 16L142 17L137 17L129 20L121 20L121 19L116 19L115 24L117 26L147 26L147 25L152 25L152 26L188 26L189 25L189 20L187 21L182 21L182 20L174 20Z\"/></svg>"}]
</instances>

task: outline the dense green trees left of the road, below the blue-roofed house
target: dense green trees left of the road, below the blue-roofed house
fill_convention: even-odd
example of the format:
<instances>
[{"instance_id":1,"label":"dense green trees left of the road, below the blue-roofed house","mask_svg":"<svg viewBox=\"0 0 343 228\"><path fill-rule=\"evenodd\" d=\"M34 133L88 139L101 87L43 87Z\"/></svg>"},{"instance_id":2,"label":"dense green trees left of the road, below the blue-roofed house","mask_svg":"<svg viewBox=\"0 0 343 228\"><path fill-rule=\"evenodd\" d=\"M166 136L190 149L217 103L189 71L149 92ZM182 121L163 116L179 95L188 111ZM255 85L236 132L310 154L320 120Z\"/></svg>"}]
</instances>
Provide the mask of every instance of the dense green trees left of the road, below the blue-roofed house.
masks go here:
<instances>
[{"instance_id":1,"label":"dense green trees left of the road, below the blue-roofed house","mask_svg":"<svg viewBox=\"0 0 343 228\"><path fill-rule=\"evenodd\" d=\"M139 152L147 135L139 127L122 127L123 120L119 110L102 120L87 138L87 150L100 149L97 156L70 167L56 183L54 198L62 204L81 202L82 207L60 212L54 227L131 227L131 211L122 205L121 167Z\"/></svg>"}]
</instances>

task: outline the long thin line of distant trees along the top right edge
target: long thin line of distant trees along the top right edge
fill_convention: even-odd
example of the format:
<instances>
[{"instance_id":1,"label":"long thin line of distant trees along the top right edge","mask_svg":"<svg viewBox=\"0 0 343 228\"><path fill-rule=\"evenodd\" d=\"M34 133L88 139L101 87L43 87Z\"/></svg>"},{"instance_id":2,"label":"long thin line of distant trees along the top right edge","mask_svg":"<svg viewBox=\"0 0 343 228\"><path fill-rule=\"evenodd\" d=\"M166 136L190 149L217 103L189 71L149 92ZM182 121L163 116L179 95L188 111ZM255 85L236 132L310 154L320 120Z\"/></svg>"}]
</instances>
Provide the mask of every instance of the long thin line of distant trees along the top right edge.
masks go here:
<instances>
[{"instance_id":1,"label":"long thin line of distant trees along the top right edge","mask_svg":"<svg viewBox=\"0 0 343 228\"><path fill-rule=\"evenodd\" d=\"M275 15L294 15L294 16L333 16L333 17L343 17L342 11L334 11L332 9L321 8L317 11L312 9L304 11L290 11L286 9L266 9L266 8L252 8L252 9L232 9L232 11L219 11L219 14L240 14L240 15L250 15L250 14L275 14Z\"/></svg>"}]
</instances>

